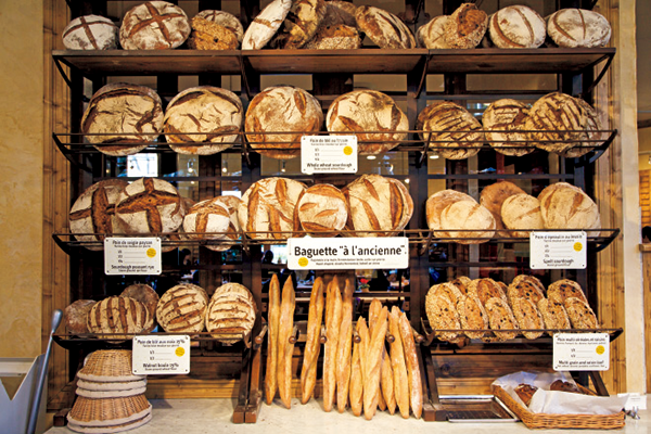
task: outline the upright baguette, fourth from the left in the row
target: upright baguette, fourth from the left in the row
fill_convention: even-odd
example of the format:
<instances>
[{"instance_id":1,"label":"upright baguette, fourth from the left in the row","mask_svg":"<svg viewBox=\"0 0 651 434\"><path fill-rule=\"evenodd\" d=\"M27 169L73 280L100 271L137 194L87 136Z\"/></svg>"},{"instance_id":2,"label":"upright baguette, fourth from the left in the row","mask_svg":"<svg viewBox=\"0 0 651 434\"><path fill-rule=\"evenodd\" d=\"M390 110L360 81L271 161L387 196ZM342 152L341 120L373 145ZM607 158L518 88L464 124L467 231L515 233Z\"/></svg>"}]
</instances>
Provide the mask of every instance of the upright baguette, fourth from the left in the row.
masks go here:
<instances>
[{"instance_id":1,"label":"upright baguette, fourth from the left in the row","mask_svg":"<svg viewBox=\"0 0 651 434\"><path fill-rule=\"evenodd\" d=\"M326 299L326 337L323 345L323 410L332 411L336 388L336 347L342 321L342 294L336 276L328 285Z\"/></svg>"}]
</instances>

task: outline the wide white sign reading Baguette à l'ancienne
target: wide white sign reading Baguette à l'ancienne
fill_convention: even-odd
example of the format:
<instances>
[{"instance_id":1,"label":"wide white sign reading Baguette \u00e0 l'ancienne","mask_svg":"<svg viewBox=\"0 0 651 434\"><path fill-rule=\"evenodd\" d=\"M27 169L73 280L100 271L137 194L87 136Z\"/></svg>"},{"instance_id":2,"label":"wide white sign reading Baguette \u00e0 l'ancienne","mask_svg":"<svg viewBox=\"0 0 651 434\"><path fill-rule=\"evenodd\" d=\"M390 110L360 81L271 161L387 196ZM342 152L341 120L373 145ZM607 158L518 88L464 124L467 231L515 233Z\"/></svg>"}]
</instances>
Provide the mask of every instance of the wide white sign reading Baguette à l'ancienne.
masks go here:
<instances>
[{"instance_id":1,"label":"wide white sign reading Baguette \u00e0 l'ancienne","mask_svg":"<svg viewBox=\"0 0 651 434\"><path fill-rule=\"evenodd\" d=\"M409 240L390 238L291 238L288 240L290 270L355 270L359 268L407 268Z\"/></svg>"}]
</instances>

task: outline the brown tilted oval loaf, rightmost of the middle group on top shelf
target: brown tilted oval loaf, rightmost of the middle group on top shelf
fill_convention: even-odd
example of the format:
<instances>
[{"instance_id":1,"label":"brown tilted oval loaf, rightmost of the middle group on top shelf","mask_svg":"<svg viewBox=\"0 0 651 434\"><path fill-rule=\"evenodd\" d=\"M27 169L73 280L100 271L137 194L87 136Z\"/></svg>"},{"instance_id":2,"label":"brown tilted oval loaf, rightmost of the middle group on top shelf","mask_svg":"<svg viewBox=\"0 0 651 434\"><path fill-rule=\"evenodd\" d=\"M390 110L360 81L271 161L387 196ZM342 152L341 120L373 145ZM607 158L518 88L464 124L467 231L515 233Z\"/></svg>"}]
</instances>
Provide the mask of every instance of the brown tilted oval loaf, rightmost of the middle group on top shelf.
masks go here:
<instances>
[{"instance_id":1,"label":"brown tilted oval loaf, rightmost of the middle group on top shelf","mask_svg":"<svg viewBox=\"0 0 651 434\"><path fill-rule=\"evenodd\" d=\"M375 7L359 7L355 11L357 28L380 48L416 48L416 39L409 27L396 15Z\"/></svg>"}]
</instances>

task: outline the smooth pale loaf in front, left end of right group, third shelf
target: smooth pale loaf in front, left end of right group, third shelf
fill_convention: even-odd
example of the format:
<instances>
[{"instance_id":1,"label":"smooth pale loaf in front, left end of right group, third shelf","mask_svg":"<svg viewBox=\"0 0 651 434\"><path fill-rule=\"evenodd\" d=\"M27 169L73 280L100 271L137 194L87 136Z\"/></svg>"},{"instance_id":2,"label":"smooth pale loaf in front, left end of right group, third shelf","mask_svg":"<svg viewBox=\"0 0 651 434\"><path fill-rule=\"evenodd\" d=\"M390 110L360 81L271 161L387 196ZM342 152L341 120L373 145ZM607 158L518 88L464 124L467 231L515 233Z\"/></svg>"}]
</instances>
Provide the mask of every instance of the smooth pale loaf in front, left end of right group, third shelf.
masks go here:
<instances>
[{"instance_id":1,"label":"smooth pale loaf in front, left end of right group, third shelf","mask_svg":"<svg viewBox=\"0 0 651 434\"><path fill-rule=\"evenodd\" d=\"M460 244L485 243L495 234L493 214L476 202L459 201L448 205L441 214L442 229ZM458 230L451 230L458 229ZM480 230L477 232L473 230ZM469 231L470 230L470 231ZM477 240L467 240L467 239Z\"/></svg>"}]
</instances>

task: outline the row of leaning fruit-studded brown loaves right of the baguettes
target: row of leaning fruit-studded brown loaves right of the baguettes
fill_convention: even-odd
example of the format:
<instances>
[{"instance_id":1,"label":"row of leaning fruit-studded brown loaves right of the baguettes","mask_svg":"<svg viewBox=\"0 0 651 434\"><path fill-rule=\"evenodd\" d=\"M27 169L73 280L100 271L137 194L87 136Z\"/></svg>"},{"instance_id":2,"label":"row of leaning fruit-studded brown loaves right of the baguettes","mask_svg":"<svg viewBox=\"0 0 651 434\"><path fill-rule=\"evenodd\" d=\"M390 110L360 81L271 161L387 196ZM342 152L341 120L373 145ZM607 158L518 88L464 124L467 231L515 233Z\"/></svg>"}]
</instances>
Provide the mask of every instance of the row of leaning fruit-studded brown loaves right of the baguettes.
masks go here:
<instances>
[{"instance_id":1,"label":"row of leaning fruit-studded brown loaves right of the baguettes","mask_svg":"<svg viewBox=\"0 0 651 434\"><path fill-rule=\"evenodd\" d=\"M548 330L597 329L595 312L580 285L553 282L546 290L534 276L516 276L507 285L493 279L460 277L433 285L425 297L430 328L437 339L463 344L465 337L484 342L534 340Z\"/></svg>"}]
</instances>

